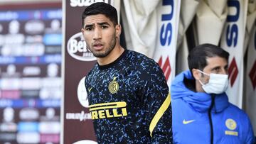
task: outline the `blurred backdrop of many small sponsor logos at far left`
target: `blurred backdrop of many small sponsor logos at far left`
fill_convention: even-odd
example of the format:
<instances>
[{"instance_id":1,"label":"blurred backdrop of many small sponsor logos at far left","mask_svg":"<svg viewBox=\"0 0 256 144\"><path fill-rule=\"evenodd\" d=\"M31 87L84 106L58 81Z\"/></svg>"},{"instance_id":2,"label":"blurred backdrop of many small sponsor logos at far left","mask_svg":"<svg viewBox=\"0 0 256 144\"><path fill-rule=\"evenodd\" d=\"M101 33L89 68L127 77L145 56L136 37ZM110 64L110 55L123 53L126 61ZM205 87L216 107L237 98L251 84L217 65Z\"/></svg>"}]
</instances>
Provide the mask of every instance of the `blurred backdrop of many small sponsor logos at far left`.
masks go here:
<instances>
[{"instance_id":1,"label":"blurred backdrop of many small sponsor logos at far left","mask_svg":"<svg viewBox=\"0 0 256 144\"><path fill-rule=\"evenodd\" d=\"M61 3L0 6L0 143L60 143Z\"/></svg>"}]
</instances>

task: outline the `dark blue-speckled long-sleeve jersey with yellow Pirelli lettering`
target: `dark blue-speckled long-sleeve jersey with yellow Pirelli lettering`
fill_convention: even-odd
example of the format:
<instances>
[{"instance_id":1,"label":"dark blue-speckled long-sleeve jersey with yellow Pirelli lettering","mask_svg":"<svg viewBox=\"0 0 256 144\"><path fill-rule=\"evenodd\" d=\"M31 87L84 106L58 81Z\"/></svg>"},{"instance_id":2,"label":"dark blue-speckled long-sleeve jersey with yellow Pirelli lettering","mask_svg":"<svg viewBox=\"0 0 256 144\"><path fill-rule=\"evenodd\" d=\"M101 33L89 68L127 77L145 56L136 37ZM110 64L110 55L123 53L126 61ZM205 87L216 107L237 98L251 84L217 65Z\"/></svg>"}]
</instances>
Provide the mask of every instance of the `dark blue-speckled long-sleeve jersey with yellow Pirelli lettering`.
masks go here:
<instances>
[{"instance_id":1,"label":"dark blue-speckled long-sleeve jersey with yellow Pirelli lettering","mask_svg":"<svg viewBox=\"0 0 256 144\"><path fill-rule=\"evenodd\" d=\"M171 96L154 60L132 50L85 78L98 143L172 143Z\"/></svg>"}]
</instances>

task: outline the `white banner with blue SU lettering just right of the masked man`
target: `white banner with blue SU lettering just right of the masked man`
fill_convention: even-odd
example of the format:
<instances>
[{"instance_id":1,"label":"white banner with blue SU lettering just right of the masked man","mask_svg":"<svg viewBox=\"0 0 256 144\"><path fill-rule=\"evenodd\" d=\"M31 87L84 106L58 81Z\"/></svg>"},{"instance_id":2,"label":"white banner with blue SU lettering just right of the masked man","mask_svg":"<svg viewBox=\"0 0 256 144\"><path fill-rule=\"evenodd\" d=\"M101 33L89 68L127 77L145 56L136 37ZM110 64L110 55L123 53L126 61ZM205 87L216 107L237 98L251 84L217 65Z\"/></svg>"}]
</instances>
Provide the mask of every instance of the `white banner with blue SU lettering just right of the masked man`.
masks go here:
<instances>
[{"instance_id":1,"label":"white banner with blue SU lettering just right of the masked man","mask_svg":"<svg viewBox=\"0 0 256 144\"><path fill-rule=\"evenodd\" d=\"M230 53L228 67L228 98L231 103L241 109L244 73L243 49L247 4L247 0L228 0L228 17L220 42L220 46Z\"/></svg>"}]
</instances>

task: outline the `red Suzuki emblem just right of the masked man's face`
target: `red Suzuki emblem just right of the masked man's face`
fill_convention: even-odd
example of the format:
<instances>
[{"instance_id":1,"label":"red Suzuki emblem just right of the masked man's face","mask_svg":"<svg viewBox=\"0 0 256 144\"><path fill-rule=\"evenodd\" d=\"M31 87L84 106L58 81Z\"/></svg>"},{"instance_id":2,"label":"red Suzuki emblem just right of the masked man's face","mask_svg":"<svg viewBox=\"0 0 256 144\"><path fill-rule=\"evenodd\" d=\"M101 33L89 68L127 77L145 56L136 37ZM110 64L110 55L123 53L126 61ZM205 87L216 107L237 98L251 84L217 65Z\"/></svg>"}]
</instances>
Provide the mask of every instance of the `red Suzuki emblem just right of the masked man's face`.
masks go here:
<instances>
[{"instance_id":1,"label":"red Suzuki emblem just right of the masked man's face","mask_svg":"<svg viewBox=\"0 0 256 144\"><path fill-rule=\"evenodd\" d=\"M228 67L228 79L230 79L231 87L233 87L233 84L235 83L235 79L238 78L238 65L235 62L235 57L230 63L230 66Z\"/></svg>"}]
</instances>

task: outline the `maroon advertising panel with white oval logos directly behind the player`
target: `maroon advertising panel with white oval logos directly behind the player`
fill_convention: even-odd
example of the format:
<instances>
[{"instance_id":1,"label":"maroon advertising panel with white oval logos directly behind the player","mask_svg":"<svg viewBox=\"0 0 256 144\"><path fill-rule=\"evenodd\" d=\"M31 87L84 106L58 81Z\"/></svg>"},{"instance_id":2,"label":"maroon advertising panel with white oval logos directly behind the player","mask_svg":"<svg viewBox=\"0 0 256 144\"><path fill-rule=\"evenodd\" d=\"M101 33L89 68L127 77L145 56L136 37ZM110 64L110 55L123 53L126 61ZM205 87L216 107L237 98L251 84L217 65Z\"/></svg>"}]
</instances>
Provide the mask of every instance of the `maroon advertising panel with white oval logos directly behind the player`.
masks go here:
<instances>
[{"instance_id":1,"label":"maroon advertising panel with white oval logos directly behind the player","mask_svg":"<svg viewBox=\"0 0 256 144\"><path fill-rule=\"evenodd\" d=\"M63 143L96 143L92 118L88 109L85 75L95 65L96 58L86 48L82 38L82 12L100 0L72 1L63 4L65 43L63 45ZM110 0L101 2L110 4Z\"/></svg>"}]
</instances>

